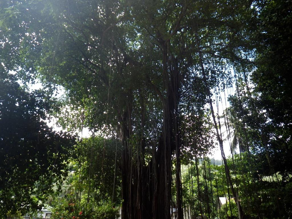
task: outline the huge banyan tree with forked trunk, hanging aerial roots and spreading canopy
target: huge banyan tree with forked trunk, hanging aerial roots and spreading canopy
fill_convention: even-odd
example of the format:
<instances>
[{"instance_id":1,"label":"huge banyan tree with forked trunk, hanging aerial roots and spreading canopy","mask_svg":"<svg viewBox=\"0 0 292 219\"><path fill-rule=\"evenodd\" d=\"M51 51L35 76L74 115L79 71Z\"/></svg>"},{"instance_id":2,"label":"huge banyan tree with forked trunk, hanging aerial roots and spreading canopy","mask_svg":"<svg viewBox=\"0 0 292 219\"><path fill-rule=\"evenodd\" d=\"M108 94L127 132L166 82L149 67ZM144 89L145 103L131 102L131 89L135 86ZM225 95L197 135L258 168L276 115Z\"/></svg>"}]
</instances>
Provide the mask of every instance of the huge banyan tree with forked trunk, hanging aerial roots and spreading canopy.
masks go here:
<instances>
[{"instance_id":1,"label":"huge banyan tree with forked trunk, hanging aerial roots and spreading canopy","mask_svg":"<svg viewBox=\"0 0 292 219\"><path fill-rule=\"evenodd\" d=\"M181 166L202 162L199 156L214 142L222 154L229 195L244 218L220 131L230 123L218 114L218 99L235 87L234 104L244 108L245 100L236 98L244 91L240 86L249 85L248 72L255 64L253 20L259 9L252 1L13 4L17 16L6 18L2 33L13 42L6 49L15 58L4 58L6 67L20 66L19 74L30 72L63 86L71 111L79 114L72 129L79 124L117 136L123 219L169 219L172 214L183 219ZM250 154L246 124L237 121L243 127L237 130L240 152ZM210 162L204 159L202 193L208 192ZM199 183L199 169L194 172ZM207 208L210 212L214 206Z\"/></svg>"}]
</instances>

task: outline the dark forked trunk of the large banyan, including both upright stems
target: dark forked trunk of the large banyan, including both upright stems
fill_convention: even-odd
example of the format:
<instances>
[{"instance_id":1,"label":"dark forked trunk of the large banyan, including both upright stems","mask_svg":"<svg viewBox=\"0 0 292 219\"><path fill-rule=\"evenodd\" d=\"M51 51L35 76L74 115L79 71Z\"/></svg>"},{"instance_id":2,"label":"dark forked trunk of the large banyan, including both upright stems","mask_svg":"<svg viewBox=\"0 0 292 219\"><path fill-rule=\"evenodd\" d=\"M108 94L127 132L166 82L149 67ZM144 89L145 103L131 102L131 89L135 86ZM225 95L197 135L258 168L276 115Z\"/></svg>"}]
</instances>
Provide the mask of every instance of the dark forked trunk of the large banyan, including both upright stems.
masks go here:
<instances>
[{"instance_id":1,"label":"dark forked trunk of the large banyan, including both upright stems","mask_svg":"<svg viewBox=\"0 0 292 219\"><path fill-rule=\"evenodd\" d=\"M180 78L177 61L168 71L167 46L163 50L163 84L166 96L163 100L164 116L157 150L147 166L141 162L143 154L132 156L131 107L121 115L122 132L122 219L170 219L171 218L171 167L172 153L176 152L176 188L178 219L183 218L182 186L180 180L180 141L178 123L178 89ZM136 145L138 147L138 145ZM143 147L142 145L139 145ZM140 150L141 153L143 150ZM140 157L139 157L140 156Z\"/></svg>"}]
</instances>

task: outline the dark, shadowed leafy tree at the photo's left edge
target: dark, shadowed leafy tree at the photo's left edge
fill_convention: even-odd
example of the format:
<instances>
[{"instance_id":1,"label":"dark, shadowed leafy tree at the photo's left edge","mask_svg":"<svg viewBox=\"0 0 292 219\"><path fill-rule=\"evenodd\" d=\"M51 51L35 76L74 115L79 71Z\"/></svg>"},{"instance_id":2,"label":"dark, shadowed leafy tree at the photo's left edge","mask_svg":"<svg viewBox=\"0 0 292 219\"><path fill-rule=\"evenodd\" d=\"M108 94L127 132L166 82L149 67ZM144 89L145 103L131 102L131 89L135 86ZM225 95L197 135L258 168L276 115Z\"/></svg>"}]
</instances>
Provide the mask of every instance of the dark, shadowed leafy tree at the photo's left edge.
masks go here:
<instances>
[{"instance_id":1,"label":"dark, shadowed leafy tree at the photo's left edge","mask_svg":"<svg viewBox=\"0 0 292 219\"><path fill-rule=\"evenodd\" d=\"M0 212L36 211L62 183L75 138L42 120L50 107L43 92L26 92L4 72L0 87Z\"/></svg>"}]
</instances>

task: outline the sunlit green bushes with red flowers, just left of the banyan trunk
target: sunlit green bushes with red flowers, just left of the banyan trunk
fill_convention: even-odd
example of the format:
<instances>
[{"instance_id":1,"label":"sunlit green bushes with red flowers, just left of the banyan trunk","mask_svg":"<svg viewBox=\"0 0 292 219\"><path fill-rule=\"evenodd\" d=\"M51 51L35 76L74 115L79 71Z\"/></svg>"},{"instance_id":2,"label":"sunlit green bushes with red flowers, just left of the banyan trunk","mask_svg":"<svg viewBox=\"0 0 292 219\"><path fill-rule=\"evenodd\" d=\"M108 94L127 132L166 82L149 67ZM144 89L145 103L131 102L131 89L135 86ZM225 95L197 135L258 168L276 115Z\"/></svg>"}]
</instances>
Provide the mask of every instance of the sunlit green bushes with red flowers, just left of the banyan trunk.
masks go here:
<instances>
[{"instance_id":1,"label":"sunlit green bushes with red flowers, just left of the banyan trunk","mask_svg":"<svg viewBox=\"0 0 292 219\"><path fill-rule=\"evenodd\" d=\"M116 141L101 137L82 141L78 147L79 156L71 159L61 193L49 199L48 204L53 207L52 218L117 217L121 200L120 171L115 166L118 161L115 161L113 151L116 146Z\"/></svg>"}]
</instances>

